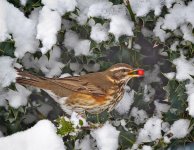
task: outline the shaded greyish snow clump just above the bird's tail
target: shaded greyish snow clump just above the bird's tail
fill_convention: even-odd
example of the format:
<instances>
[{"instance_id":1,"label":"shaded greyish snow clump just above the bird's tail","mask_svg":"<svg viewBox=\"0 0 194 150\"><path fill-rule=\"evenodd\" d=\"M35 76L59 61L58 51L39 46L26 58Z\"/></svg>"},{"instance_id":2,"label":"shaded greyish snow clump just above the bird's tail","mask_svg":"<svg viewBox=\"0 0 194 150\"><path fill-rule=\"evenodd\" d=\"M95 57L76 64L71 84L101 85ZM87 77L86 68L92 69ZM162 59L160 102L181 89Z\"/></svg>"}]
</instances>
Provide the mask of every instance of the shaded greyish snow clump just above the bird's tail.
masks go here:
<instances>
[{"instance_id":1,"label":"shaded greyish snow clump just above the bird's tail","mask_svg":"<svg viewBox=\"0 0 194 150\"><path fill-rule=\"evenodd\" d=\"M46 77L59 76L62 73L62 68L65 67L65 64L60 61L61 50L59 47L54 46L49 53L49 59L46 55L42 55L38 59L30 54L26 54L22 59L22 63L26 69L34 68L36 71L40 69Z\"/></svg>"}]
</instances>

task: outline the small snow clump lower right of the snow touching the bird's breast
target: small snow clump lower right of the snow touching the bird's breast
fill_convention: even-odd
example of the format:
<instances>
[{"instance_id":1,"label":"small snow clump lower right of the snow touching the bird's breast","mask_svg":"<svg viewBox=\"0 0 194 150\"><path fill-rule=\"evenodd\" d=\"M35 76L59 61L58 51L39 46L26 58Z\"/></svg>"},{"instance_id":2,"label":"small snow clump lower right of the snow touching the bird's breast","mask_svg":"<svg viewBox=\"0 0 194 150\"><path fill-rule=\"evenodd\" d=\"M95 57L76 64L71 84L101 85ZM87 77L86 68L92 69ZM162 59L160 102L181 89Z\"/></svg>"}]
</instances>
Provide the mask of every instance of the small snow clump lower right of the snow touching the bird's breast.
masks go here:
<instances>
[{"instance_id":1,"label":"small snow clump lower right of the snow touching the bird's breast","mask_svg":"<svg viewBox=\"0 0 194 150\"><path fill-rule=\"evenodd\" d=\"M144 111L143 109L138 109L137 107L132 108L130 116L134 118L134 122L137 125L145 123L148 119L146 111Z\"/></svg>"}]
</instances>

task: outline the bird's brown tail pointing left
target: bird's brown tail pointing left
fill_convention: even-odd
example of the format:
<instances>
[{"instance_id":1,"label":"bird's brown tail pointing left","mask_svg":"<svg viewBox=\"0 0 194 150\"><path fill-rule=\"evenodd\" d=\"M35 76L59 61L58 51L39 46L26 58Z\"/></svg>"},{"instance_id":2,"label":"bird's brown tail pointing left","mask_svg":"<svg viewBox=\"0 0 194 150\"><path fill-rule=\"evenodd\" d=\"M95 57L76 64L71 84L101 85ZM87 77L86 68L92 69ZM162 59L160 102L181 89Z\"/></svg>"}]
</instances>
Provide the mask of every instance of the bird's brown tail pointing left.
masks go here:
<instances>
[{"instance_id":1,"label":"bird's brown tail pointing left","mask_svg":"<svg viewBox=\"0 0 194 150\"><path fill-rule=\"evenodd\" d=\"M33 75L27 71L15 68L17 71L16 83L47 89L46 78Z\"/></svg>"}]
</instances>

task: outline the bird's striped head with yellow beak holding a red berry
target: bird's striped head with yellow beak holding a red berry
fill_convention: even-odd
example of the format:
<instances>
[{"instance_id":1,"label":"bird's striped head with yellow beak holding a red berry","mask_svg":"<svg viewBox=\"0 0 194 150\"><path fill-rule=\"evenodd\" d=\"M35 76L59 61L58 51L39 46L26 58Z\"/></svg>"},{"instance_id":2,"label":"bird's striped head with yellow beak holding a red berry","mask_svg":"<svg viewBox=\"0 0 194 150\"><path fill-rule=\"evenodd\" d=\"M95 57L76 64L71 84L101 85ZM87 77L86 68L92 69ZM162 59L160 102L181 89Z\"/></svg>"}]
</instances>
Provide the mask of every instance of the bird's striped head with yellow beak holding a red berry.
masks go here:
<instances>
[{"instance_id":1,"label":"bird's striped head with yellow beak holding a red berry","mask_svg":"<svg viewBox=\"0 0 194 150\"><path fill-rule=\"evenodd\" d=\"M130 65L119 63L111 66L106 70L108 77L118 82L127 82L133 77L144 75L143 69L133 69Z\"/></svg>"}]
</instances>

